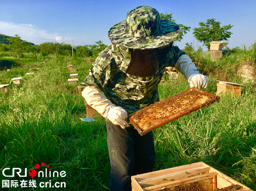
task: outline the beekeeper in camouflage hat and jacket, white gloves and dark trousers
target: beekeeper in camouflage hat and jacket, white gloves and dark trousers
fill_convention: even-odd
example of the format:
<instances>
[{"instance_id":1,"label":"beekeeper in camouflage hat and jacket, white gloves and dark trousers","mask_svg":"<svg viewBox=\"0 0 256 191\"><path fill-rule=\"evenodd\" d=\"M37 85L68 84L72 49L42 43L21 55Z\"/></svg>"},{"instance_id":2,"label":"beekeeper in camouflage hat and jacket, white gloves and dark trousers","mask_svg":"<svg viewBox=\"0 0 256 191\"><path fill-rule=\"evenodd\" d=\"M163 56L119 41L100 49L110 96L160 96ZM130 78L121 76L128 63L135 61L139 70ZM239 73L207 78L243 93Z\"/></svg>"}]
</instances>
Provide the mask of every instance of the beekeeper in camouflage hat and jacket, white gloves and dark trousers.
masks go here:
<instances>
[{"instance_id":1,"label":"beekeeper in camouflage hat and jacket, white gloves and dark trousers","mask_svg":"<svg viewBox=\"0 0 256 191\"><path fill-rule=\"evenodd\" d=\"M188 55L173 41L174 22L160 19L150 6L127 13L126 20L108 31L112 45L102 51L80 84L88 105L105 119L111 164L110 191L131 191L131 176L151 172L155 164L152 132L141 136L128 114L159 101L158 84L172 66L190 87L206 88L208 77L198 72Z\"/></svg>"}]
</instances>

